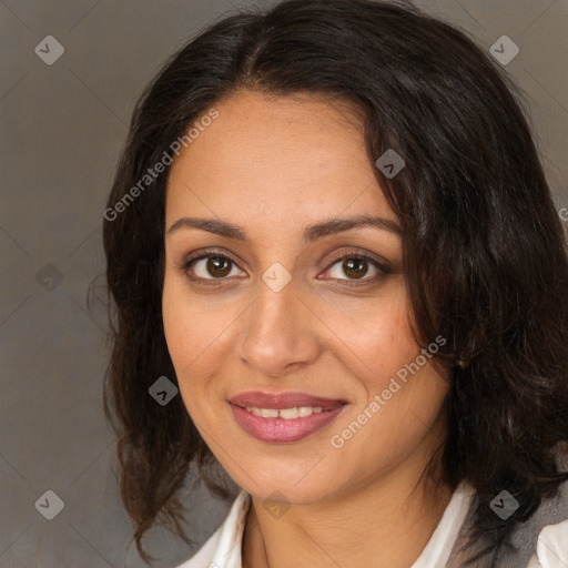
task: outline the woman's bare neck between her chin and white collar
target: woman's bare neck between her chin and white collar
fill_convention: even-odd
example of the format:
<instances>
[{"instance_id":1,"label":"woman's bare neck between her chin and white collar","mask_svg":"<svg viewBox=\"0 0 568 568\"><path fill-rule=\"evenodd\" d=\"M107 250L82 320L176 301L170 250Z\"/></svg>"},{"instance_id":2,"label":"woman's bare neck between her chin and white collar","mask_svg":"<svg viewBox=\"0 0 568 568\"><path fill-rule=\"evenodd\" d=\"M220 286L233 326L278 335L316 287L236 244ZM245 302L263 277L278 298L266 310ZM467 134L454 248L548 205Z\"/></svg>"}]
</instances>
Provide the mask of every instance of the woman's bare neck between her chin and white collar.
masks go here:
<instances>
[{"instance_id":1,"label":"woman's bare neck between her chin and white collar","mask_svg":"<svg viewBox=\"0 0 568 568\"><path fill-rule=\"evenodd\" d=\"M275 518L253 498L243 537L243 568L408 568L452 498L447 486L416 477L377 479Z\"/></svg>"}]
</instances>

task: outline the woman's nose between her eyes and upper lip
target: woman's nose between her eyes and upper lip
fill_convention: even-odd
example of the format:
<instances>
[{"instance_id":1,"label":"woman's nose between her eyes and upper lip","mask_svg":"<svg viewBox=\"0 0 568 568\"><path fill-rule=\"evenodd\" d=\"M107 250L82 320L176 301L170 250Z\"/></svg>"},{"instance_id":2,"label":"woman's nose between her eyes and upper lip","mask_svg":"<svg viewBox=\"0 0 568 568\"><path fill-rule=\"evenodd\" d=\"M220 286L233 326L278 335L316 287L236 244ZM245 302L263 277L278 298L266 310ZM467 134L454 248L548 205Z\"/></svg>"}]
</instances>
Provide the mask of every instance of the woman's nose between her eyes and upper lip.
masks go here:
<instances>
[{"instance_id":1,"label":"woman's nose between her eyes and upper lip","mask_svg":"<svg viewBox=\"0 0 568 568\"><path fill-rule=\"evenodd\" d=\"M294 277L280 291L260 281L258 294L243 314L237 355L252 373L282 377L317 358L318 325Z\"/></svg>"}]
</instances>

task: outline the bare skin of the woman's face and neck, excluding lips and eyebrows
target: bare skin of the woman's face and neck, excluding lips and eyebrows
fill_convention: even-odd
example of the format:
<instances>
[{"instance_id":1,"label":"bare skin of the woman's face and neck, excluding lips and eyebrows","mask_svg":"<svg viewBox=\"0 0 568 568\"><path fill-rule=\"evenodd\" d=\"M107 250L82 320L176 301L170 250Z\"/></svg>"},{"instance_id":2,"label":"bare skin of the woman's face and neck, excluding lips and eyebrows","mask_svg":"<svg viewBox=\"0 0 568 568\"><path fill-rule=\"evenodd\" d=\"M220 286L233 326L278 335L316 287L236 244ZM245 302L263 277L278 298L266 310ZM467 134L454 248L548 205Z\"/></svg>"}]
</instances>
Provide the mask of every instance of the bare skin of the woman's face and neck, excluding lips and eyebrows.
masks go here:
<instances>
[{"instance_id":1,"label":"bare skin of the woman's face and neck, excluding lips and eyebrows","mask_svg":"<svg viewBox=\"0 0 568 568\"><path fill-rule=\"evenodd\" d=\"M315 95L239 91L214 108L219 118L169 174L163 321L187 412L252 496L243 566L409 567L452 495L427 480L417 485L445 438L448 383L427 361L343 447L332 447L331 437L420 347L409 326L399 235L363 226L303 241L306 225L331 217L396 222L367 158L362 119L348 103ZM183 216L240 225L250 241L195 227L169 233ZM190 254L205 247L234 264L215 272L202 260L184 271ZM387 271L363 263L357 277L335 261L342 253L367 255ZM262 280L275 262L291 275L280 292ZM233 417L227 400L245 390L348 404L306 438L270 444ZM274 491L284 497L274 499ZM284 514L271 513L266 500L282 501Z\"/></svg>"}]
</instances>

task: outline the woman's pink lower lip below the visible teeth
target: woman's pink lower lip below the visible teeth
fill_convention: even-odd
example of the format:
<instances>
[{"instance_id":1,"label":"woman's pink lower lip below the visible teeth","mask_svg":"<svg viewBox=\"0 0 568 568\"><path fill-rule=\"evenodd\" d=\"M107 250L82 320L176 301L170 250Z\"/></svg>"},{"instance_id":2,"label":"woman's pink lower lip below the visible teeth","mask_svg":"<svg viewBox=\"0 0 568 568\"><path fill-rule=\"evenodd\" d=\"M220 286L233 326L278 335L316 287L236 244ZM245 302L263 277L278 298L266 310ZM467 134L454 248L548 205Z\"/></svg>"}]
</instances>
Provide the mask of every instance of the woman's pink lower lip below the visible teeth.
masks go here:
<instances>
[{"instance_id":1,"label":"woman's pink lower lip below the visible teeth","mask_svg":"<svg viewBox=\"0 0 568 568\"><path fill-rule=\"evenodd\" d=\"M343 410L344 406L314 413L304 418L291 418L290 420L284 418L263 418L233 404L231 409L235 420L247 434L262 442L282 444L285 442L297 442L322 429Z\"/></svg>"}]
</instances>

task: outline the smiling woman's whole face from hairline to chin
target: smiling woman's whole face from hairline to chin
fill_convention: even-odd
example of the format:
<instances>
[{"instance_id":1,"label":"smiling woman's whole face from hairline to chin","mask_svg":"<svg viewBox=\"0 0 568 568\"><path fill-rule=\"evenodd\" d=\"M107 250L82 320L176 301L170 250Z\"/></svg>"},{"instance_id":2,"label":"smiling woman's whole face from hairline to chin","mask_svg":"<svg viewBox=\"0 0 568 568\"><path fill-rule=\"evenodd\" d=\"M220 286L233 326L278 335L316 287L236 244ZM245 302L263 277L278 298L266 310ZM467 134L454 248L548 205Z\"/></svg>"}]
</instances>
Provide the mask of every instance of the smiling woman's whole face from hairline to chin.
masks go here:
<instances>
[{"instance_id":1,"label":"smiling woman's whole face from hairline to chin","mask_svg":"<svg viewBox=\"0 0 568 568\"><path fill-rule=\"evenodd\" d=\"M445 338L420 352L410 332L362 120L308 95L214 108L166 190L163 321L187 412L262 499L415 479L444 436L430 359Z\"/></svg>"}]
</instances>

